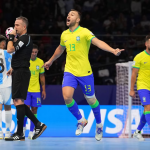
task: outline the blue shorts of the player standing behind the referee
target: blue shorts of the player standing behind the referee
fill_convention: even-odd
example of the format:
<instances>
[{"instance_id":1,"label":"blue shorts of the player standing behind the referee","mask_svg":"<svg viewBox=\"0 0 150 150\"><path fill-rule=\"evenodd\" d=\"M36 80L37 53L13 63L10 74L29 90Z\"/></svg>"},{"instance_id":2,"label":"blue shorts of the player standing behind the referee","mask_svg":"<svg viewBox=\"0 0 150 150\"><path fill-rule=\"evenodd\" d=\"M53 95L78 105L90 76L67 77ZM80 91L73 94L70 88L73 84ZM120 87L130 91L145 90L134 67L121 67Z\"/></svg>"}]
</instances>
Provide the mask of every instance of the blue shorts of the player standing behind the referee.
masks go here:
<instances>
[{"instance_id":1,"label":"blue shorts of the player standing behind the referee","mask_svg":"<svg viewBox=\"0 0 150 150\"><path fill-rule=\"evenodd\" d=\"M27 98L24 101L26 105L29 105L31 107L41 107L41 94L40 92L33 93L33 92L28 92L27 93Z\"/></svg>"}]
</instances>

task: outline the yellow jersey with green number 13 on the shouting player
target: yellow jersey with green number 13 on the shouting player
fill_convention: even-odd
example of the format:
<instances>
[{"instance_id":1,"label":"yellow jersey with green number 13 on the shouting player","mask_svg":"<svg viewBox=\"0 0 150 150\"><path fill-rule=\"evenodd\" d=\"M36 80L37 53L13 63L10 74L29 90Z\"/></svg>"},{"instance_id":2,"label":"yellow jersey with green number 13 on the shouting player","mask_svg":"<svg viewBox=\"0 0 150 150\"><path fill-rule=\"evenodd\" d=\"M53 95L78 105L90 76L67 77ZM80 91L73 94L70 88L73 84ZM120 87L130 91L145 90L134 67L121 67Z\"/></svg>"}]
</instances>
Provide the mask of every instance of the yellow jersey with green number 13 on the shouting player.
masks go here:
<instances>
[{"instance_id":1,"label":"yellow jersey with green number 13 on the shouting player","mask_svg":"<svg viewBox=\"0 0 150 150\"><path fill-rule=\"evenodd\" d=\"M77 77L92 74L88 53L94 37L91 31L80 26L73 32L68 29L62 33L60 45L65 46L67 51L65 72Z\"/></svg>"}]
</instances>

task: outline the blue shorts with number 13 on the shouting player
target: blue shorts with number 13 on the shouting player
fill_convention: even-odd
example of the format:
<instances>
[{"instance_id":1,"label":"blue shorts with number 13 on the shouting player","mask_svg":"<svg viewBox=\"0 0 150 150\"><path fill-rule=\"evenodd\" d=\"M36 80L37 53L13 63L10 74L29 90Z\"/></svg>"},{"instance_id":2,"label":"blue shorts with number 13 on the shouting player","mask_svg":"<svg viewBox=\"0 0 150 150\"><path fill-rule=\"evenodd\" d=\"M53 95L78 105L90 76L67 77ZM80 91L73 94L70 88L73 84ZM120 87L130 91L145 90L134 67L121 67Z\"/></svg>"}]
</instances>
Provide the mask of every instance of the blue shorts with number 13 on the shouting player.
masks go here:
<instances>
[{"instance_id":1,"label":"blue shorts with number 13 on the shouting player","mask_svg":"<svg viewBox=\"0 0 150 150\"><path fill-rule=\"evenodd\" d=\"M93 74L76 77L69 72L64 72L62 87L71 86L76 89L78 84L86 96L93 96L95 94Z\"/></svg>"}]
</instances>

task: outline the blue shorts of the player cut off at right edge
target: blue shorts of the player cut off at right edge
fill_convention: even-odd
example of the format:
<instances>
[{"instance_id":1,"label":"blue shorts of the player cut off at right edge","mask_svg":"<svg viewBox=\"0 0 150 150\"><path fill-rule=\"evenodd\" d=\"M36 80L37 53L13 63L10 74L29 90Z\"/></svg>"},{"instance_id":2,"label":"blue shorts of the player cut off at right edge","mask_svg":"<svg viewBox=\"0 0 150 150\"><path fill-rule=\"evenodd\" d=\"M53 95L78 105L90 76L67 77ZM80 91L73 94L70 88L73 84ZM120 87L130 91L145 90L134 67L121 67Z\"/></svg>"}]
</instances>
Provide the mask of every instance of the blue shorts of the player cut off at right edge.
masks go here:
<instances>
[{"instance_id":1,"label":"blue shorts of the player cut off at right edge","mask_svg":"<svg viewBox=\"0 0 150 150\"><path fill-rule=\"evenodd\" d=\"M143 106L150 105L150 91L146 89L138 90L138 94Z\"/></svg>"}]
</instances>

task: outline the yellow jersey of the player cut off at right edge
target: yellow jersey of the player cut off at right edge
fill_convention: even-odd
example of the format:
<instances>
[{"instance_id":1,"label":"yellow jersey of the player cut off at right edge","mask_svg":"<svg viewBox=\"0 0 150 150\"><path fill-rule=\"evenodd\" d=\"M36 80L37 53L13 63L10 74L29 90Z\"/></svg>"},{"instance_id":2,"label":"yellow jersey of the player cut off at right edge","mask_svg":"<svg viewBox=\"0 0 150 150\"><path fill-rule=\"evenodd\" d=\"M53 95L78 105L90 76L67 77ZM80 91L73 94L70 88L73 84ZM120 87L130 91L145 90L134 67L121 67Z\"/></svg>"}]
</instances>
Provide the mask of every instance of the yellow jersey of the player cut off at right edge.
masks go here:
<instances>
[{"instance_id":1,"label":"yellow jersey of the player cut off at right edge","mask_svg":"<svg viewBox=\"0 0 150 150\"><path fill-rule=\"evenodd\" d=\"M139 69L137 90L150 90L150 55L146 50L135 56L132 67Z\"/></svg>"}]
</instances>

